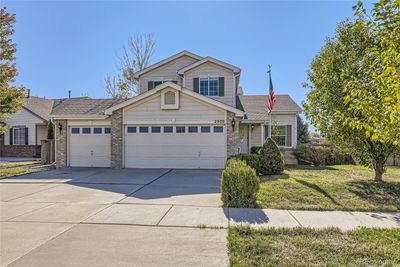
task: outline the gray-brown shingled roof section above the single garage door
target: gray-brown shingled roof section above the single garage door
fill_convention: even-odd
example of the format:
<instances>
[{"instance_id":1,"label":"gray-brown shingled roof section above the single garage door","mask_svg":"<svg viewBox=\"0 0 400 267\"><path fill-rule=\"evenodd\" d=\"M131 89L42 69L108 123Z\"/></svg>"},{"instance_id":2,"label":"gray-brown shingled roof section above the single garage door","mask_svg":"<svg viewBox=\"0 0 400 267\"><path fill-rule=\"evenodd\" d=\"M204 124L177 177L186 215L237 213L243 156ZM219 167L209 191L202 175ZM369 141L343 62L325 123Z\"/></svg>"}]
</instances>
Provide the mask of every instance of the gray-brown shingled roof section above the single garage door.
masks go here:
<instances>
[{"instance_id":1,"label":"gray-brown shingled roof section above the single garage door","mask_svg":"<svg viewBox=\"0 0 400 267\"><path fill-rule=\"evenodd\" d=\"M104 115L111 106L124 99L66 98L56 100L51 115Z\"/></svg>"}]
</instances>

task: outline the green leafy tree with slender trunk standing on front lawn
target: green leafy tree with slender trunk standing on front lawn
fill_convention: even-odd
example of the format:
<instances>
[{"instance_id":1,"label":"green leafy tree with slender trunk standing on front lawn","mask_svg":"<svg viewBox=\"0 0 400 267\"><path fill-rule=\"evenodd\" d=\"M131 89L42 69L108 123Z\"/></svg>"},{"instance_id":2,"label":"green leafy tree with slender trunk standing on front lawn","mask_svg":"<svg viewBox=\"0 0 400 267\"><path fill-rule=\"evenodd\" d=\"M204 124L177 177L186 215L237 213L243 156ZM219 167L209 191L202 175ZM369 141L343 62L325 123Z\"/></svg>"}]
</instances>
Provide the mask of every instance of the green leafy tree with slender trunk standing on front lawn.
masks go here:
<instances>
[{"instance_id":1,"label":"green leafy tree with slender trunk standing on front lawn","mask_svg":"<svg viewBox=\"0 0 400 267\"><path fill-rule=\"evenodd\" d=\"M395 151L393 142L378 141L365 134L362 127L354 127L349 118L365 116L349 109L351 97L346 86L354 79L370 83L371 77L360 68L368 49L374 45L374 36L362 17L356 21L338 24L336 35L326 39L324 47L313 59L308 70L310 88L305 114L311 123L360 163L375 170L375 180L381 181L387 158Z\"/></svg>"}]
</instances>

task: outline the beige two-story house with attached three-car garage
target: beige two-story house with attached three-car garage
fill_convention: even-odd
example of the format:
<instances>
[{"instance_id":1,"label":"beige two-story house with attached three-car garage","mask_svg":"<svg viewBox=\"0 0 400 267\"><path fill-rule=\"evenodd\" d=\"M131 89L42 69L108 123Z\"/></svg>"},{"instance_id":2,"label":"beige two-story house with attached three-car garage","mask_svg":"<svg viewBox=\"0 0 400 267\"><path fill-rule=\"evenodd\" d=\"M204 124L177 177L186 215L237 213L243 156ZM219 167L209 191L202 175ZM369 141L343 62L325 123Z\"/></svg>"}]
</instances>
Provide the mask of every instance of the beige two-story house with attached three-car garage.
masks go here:
<instances>
[{"instance_id":1,"label":"beige two-story house with attached three-car garage","mask_svg":"<svg viewBox=\"0 0 400 267\"><path fill-rule=\"evenodd\" d=\"M243 96L241 70L183 51L135 74L131 99L54 104L58 167L223 168L267 136L266 96ZM274 138L295 147L300 108L278 95Z\"/></svg>"}]
</instances>

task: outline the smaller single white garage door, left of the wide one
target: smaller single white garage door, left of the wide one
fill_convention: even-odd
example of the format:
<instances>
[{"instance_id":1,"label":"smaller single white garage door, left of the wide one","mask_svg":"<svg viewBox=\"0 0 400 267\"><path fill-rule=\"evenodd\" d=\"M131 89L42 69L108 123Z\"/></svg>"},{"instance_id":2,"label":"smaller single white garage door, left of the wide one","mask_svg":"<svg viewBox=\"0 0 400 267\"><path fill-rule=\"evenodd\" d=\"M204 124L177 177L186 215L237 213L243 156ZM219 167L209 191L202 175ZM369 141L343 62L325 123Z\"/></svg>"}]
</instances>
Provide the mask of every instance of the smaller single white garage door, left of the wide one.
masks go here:
<instances>
[{"instance_id":1,"label":"smaller single white garage door, left of the wide one","mask_svg":"<svg viewBox=\"0 0 400 267\"><path fill-rule=\"evenodd\" d=\"M70 127L69 133L71 167L110 167L111 128Z\"/></svg>"}]
</instances>

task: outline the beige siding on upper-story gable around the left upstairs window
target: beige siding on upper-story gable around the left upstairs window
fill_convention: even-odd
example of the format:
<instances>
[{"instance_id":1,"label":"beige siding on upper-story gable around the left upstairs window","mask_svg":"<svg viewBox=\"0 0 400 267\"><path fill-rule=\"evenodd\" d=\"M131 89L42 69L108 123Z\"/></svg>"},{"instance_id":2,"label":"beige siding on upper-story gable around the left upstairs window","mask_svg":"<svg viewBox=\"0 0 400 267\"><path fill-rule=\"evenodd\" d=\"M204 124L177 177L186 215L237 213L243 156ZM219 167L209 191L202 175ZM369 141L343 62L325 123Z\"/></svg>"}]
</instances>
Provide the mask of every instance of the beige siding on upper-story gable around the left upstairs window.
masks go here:
<instances>
[{"instance_id":1,"label":"beige siding on upper-story gable around the left upstairs window","mask_svg":"<svg viewBox=\"0 0 400 267\"><path fill-rule=\"evenodd\" d=\"M182 78L177 74L178 70L197 62L189 56L182 56L171 62L168 62L152 71L149 71L139 78L140 93L147 91L147 85L149 81L177 81L179 85L182 85Z\"/></svg>"}]
</instances>

